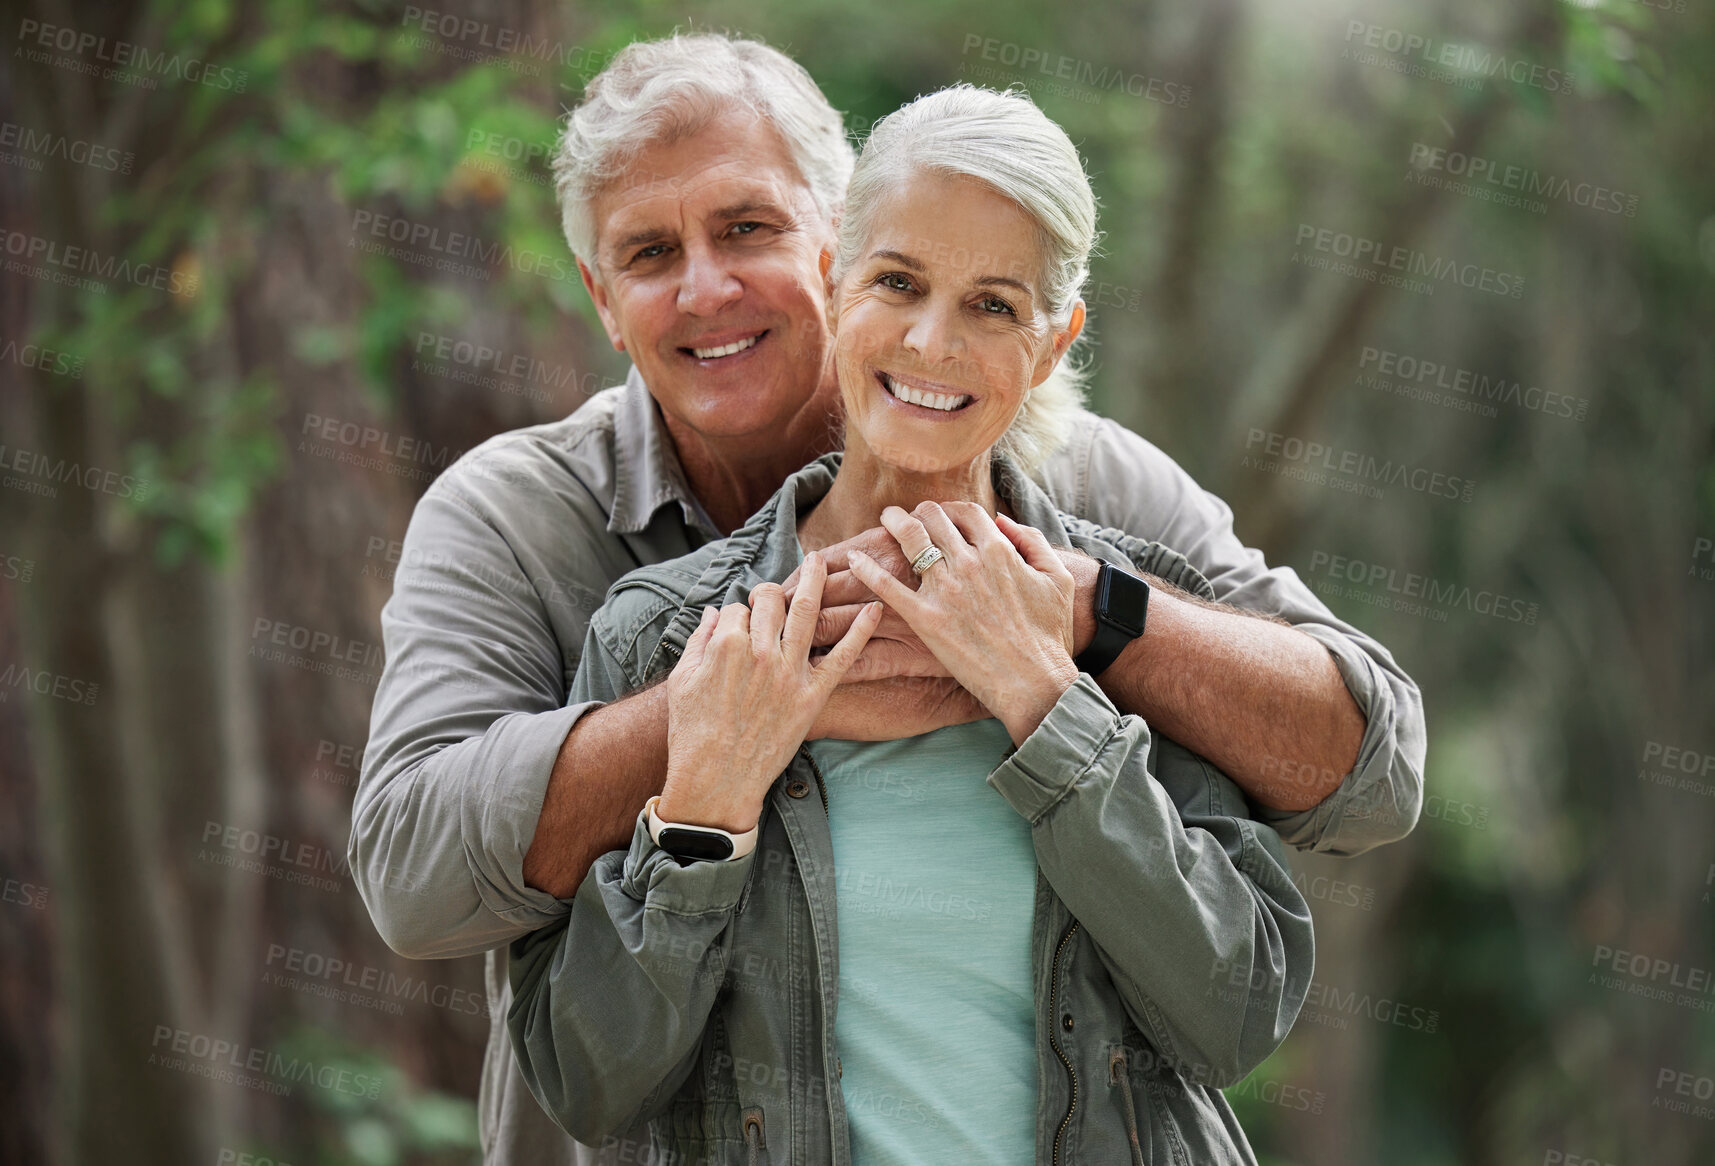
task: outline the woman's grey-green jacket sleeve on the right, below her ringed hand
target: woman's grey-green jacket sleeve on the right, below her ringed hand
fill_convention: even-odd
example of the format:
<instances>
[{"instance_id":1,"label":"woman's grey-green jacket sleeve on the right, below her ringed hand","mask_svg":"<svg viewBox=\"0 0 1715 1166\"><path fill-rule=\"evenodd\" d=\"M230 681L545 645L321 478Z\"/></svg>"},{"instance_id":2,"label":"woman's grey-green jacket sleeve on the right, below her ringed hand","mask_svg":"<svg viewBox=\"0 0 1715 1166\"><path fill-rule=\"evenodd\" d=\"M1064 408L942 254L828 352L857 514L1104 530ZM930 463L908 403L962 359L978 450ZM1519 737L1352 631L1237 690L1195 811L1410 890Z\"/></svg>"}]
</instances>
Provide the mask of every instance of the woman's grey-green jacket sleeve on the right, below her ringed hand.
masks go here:
<instances>
[{"instance_id":1,"label":"woman's grey-green jacket sleeve on the right, below her ringed hand","mask_svg":"<svg viewBox=\"0 0 1715 1166\"><path fill-rule=\"evenodd\" d=\"M1279 1048L1315 964L1310 909L1230 780L1080 672L988 782L1163 1053L1226 1087ZM1245 984L1237 1007L1211 998L1216 971Z\"/></svg>"}]
</instances>

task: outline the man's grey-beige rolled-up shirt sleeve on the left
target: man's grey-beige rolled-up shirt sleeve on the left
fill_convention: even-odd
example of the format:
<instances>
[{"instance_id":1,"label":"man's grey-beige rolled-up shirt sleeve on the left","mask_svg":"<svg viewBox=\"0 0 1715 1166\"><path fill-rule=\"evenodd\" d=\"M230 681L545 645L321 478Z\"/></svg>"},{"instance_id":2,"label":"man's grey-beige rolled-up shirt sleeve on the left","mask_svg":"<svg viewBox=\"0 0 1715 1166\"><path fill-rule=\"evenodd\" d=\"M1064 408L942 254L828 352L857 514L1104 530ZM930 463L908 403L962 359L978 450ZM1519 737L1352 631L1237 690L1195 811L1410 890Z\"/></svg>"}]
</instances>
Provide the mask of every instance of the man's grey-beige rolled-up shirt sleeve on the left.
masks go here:
<instances>
[{"instance_id":1,"label":"man's grey-beige rolled-up shirt sleeve on the left","mask_svg":"<svg viewBox=\"0 0 1715 1166\"><path fill-rule=\"evenodd\" d=\"M424 496L400 564L352 878L401 955L472 955L569 909L525 885L523 857L559 748L599 701L564 703L566 658L540 595L456 489Z\"/></svg>"}]
</instances>

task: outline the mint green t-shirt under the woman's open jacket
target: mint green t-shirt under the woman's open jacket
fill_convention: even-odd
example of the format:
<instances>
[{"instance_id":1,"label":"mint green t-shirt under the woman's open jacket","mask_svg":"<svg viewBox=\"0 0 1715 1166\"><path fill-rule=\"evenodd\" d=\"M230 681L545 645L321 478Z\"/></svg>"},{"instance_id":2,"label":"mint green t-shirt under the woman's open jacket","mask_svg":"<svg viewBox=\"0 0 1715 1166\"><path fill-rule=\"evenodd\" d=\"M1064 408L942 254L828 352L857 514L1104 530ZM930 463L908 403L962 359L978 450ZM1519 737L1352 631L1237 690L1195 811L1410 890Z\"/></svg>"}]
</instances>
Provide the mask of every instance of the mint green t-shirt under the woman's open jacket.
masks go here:
<instances>
[{"instance_id":1,"label":"mint green t-shirt under the woman's open jacket","mask_svg":"<svg viewBox=\"0 0 1715 1166\"><path fill-rule=\"evenodd\" d=\"M833 832L854 1166L1036 1161L1036 852L986 780L1010 746L995 718L809 742Z\"/></svg>"}]
</instances>

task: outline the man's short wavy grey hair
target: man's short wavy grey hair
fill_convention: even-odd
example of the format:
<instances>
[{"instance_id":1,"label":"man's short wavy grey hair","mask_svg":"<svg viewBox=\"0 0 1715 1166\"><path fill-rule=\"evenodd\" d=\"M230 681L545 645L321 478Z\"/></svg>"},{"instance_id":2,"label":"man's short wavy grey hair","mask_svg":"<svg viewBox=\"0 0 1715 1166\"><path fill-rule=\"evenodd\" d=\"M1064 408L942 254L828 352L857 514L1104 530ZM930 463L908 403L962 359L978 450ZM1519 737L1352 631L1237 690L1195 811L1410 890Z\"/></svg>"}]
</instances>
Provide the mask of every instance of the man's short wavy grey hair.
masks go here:
<instances>
[{"instance_id":1,"label":"man's short wavy grey hair","mask_svg":"<svg viewBox=\"0 0 1715 1166\"><path fill-rule=\"evenodd\" d=\"M674 34L619 50L566 117L552 168L571 252L597 271L590 202L607 189L652 182L628 173L638 151L689 137L736 108L773 125L832 223L845 199L852 147L844 120L804 67L761 41Z\"/></svg>"}]
</instances>

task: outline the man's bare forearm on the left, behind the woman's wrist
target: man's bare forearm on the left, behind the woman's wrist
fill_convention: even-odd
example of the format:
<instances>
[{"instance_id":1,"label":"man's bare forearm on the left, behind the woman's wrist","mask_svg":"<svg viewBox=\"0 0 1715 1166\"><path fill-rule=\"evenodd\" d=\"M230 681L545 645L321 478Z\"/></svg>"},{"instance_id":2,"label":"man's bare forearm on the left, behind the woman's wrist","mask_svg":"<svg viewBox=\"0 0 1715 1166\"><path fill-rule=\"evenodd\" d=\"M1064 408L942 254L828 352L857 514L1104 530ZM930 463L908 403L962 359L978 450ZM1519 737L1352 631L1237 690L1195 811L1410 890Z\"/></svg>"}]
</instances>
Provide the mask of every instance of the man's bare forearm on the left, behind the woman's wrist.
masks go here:
<instances>
[{"instance_id":1,"label":"man's bare forearm on the left, behind the woman's wrist","mask_svg":"<svg viewBox=\"0 0 1715 1166\"><path fill-rule=\"evenodd\" d=\"M638 811L665 777L665 684L580 717L554 760L525 883L571 899L599 856L631 842Z\"/></svg>"}]
</instances>

